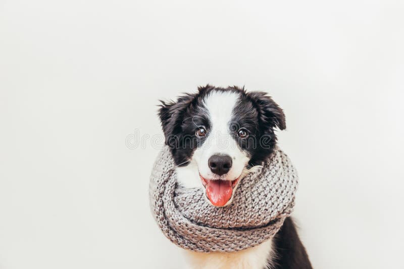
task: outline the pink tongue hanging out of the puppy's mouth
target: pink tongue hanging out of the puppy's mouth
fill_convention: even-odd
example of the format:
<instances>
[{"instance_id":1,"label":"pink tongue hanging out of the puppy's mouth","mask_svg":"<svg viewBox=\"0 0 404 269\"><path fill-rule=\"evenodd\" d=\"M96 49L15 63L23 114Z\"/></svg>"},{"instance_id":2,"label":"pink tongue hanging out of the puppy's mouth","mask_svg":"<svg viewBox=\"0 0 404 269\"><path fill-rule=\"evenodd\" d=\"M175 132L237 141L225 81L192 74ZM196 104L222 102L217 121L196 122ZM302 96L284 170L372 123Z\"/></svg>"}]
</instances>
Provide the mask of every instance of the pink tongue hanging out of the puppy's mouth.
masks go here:
<instances>
[{"instance_id":1,"label":"pink tongue hanging out of the puppy's mouth","mask_svg":"<svg viewBox=\"0 0 404 269\"><path fill-rule=\"evenodd\" d=\"M207 180L206 196L216 207L223 207L233 193L230 180Z\"/></svg>"}]
</instances>

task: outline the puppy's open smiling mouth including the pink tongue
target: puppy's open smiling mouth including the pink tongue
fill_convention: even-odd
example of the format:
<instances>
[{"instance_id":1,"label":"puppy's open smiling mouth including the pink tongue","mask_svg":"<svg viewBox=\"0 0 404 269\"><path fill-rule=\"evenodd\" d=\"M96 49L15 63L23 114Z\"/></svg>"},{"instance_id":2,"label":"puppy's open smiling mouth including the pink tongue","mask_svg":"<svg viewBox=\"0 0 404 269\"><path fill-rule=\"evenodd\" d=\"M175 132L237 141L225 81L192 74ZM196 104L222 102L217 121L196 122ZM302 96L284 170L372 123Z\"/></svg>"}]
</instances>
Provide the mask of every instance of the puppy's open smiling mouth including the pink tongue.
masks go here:
<instances>
[{"instance_id":1,"label":"puppy's open smiling mouth including the pink tongue","mask_svg":"<svg viewBox=\"0 0 404 269\"><path fill-rule=\"evenodd\" d=\"M233 196L233 189L237 186L240 177L234 180L206 179L200 176L205 187L206 196L215 207L224 207Z\"/></svg>"}]
</instances>

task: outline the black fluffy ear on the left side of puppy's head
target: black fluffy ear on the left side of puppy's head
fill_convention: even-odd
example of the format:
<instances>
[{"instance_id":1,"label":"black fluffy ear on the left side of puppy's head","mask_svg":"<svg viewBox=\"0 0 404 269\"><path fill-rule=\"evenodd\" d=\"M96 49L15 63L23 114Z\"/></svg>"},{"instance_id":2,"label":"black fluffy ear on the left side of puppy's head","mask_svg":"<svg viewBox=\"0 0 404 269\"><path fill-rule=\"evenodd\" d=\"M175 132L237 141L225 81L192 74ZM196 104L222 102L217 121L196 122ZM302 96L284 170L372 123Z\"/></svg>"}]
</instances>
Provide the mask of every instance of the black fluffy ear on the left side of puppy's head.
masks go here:
<instances>
[{"instance_id":1,"label":"black fluffy ear on the left side of puppy's head","mask_svg":"<svg viewBox=\"0 0 404 269\"><path fill-rule=\"evenodd\" d=\"M194 95L185 94L179 97L176 102L166 103L160 100L162 104L160 105L159 116L166 142L170 138L179 138L182 131L182 115L189 108L193 99Z\"/></svg>"}]
</instances>

